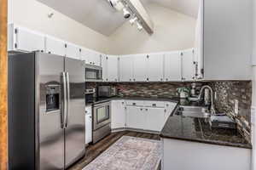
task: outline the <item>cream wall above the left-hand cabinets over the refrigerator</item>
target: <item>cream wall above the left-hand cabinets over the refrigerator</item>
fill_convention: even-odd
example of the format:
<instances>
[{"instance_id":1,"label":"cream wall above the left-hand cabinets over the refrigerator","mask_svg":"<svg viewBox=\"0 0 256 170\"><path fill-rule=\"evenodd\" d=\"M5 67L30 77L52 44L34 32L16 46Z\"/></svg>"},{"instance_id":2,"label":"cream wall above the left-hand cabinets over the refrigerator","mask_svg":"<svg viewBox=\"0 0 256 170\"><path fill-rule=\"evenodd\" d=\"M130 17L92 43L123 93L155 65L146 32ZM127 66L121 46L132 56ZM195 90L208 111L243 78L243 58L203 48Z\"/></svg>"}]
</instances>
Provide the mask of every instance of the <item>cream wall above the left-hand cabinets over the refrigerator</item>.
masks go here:
<instances>
[{"instance_id":1,"label":"cream wall above the left-hand cabinets over the refrigerator","mask_svg":"<svg viewBox=\"0 0 256 170\"><path fill-rule=\"evenodd\" d=\"M54 13L49 19L48 14ZM41 31L85 48L108 53L108 37L36 0L9 0L9 23Z\"/></svg>"}]
</instances>

